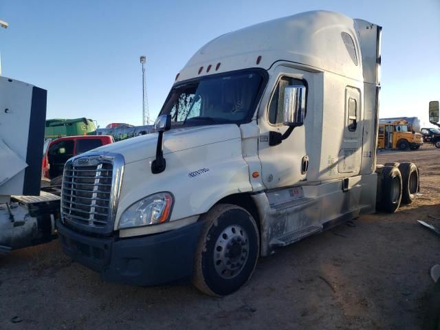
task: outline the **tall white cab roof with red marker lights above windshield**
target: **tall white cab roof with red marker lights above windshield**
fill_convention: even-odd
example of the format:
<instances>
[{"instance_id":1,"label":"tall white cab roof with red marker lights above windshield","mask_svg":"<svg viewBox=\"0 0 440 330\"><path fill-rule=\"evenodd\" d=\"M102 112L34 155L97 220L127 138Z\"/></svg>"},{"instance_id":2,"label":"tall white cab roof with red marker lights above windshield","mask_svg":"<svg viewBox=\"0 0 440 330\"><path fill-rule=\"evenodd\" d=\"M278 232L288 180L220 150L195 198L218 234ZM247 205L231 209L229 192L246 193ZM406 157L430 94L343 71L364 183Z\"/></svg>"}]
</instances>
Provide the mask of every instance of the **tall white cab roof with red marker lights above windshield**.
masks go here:
<instances>
[{"instance_id":1,"label":"tall white cab roof with red marker lights above windshield","mask_svg":"<svg viewBox=\"0 0 440 330\"><path fill-rule=\"evenodd\" d=\"M357 31L355 20L324 10L266 21L213 39L190 58L176 81L250 67L270 69L276 61L363 80Z\"/></svg>"}]
</instances>

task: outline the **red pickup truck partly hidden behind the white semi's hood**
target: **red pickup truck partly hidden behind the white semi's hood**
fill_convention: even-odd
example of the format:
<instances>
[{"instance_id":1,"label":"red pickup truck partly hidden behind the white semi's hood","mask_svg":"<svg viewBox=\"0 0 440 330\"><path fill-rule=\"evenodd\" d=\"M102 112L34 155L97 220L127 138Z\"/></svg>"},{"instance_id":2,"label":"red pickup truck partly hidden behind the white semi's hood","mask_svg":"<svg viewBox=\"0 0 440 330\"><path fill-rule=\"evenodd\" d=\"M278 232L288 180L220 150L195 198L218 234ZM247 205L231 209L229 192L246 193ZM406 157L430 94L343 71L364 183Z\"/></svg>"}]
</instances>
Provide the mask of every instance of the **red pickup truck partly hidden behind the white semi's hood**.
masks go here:
<instances>
[{"instance_id":1,"label":"red pickup truck partly hidden behind the white semi's hood","mask_svg":"<svg viewBox=\"0 0 440 330\"><path fill-rule=\"evenodd\" d=\"M67 159L113 142L111 135L66 136L53 140L43 157L43 175L50 179L51 186L59 186L63 181L63 168Z\"/></svg>"}]
</instances>

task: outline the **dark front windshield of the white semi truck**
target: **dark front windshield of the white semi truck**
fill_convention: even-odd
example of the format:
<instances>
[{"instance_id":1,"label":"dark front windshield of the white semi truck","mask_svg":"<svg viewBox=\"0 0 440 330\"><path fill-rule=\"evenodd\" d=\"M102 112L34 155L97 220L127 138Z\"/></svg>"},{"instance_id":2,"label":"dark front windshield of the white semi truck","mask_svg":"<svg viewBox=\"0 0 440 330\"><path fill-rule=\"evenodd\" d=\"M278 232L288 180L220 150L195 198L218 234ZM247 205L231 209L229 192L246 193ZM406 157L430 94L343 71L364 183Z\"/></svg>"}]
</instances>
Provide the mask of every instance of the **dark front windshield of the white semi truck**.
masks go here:
<instances>
[{"instance_id":1,"label":"dark front windshield of the white semi truck","mask_svg":"<svg viewBox=\"0 0 440 330\"><path fill-rule=\"evenodd\" d=\"M159 115L171 115L172 125L242 123L252 118L263 76L232 72L177 85Z\"/></svg>"}]
</instances>

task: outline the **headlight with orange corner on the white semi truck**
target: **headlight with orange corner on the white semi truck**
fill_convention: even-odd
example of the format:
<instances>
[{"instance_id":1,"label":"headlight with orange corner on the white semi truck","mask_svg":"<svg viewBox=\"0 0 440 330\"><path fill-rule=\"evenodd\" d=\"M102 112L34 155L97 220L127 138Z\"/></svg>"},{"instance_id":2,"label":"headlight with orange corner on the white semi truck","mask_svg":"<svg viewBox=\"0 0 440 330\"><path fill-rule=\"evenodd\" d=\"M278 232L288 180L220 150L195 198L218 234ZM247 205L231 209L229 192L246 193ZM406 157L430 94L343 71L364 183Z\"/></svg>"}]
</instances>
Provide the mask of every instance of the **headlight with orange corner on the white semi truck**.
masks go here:
<instances>
[{"instance_id":1,"label":"headlight with orange corner on the white semi truck","mask_svg":"<svg viewBox=\"0 0 440 330\"><path fill-rule=\"evenodd\" d=\"M172 206L173 195L169 192L159 192L140 199L122 213L119 228L155 225L168 221Z\"/></svg>"}]
</instances>

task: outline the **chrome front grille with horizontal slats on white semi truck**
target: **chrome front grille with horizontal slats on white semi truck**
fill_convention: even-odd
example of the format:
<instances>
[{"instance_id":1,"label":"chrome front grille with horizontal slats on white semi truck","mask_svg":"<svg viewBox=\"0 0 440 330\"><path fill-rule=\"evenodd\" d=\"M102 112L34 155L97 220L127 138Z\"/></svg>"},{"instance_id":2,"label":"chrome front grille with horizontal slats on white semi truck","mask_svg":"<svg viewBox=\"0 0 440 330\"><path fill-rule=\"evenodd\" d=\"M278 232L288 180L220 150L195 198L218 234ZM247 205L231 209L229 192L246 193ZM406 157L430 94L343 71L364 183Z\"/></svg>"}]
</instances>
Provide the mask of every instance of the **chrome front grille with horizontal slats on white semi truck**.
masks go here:
<instances>
[{"instance_id":1,"label":"chrome front grille with horizontal slats on white semi truck","mask_svg":"<svg viewBox=\"0 0 440 330\"><path fill-rule=\"evenodd\" d=\"M61 215L64 223L91 232L113 229L123 160L118 155L82 155L69 159L63 175Z\"/></svg>"}]
</instances>

